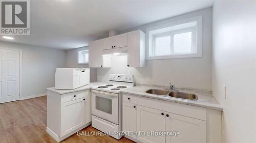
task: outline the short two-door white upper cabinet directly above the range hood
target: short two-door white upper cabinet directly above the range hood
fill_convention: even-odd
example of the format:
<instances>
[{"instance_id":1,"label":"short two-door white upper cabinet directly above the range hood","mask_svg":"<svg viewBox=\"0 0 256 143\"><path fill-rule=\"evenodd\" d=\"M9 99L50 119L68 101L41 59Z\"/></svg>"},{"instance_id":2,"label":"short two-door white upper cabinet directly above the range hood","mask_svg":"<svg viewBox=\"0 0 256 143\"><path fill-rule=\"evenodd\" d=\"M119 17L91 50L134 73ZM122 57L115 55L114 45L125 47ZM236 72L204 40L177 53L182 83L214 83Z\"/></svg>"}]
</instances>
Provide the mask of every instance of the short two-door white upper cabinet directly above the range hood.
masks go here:
<instances>
[{"instance_id":1,"label":"short two-door white upper cabinet directly above the range hood","mask_svg":"<svg viewBox=\"0 0 256 143\"><path fill-rule=\"evenodd\" d=\"M127 47L127 33L103 39L103 50Z\"/></svg>"}]
</instances>

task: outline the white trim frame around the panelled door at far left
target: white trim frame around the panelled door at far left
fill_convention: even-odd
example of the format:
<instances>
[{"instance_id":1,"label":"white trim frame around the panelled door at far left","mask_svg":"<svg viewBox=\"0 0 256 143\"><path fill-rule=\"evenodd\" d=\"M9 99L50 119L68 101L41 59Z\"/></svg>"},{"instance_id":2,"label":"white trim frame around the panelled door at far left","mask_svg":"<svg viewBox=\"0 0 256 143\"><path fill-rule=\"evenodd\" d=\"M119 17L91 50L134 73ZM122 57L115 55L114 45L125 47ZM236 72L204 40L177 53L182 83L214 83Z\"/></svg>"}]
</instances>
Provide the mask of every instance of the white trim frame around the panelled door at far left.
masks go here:
<instances>
[{"instance_id":1,"label":"white trim frame around the panelled door at far left","mask_svg":"<svg viewBox=\"0 0 256 143\"><path fill-rule=\"evenodd\" d=\"M20 97L22 96L23 93L23 50L22 49L18 49L18 48L2 48L0 47L0 49L4 49L4 50L16 50L19 52L19 94L18 94L18 100L20 100Z\"/></svg>"}]
</instances>

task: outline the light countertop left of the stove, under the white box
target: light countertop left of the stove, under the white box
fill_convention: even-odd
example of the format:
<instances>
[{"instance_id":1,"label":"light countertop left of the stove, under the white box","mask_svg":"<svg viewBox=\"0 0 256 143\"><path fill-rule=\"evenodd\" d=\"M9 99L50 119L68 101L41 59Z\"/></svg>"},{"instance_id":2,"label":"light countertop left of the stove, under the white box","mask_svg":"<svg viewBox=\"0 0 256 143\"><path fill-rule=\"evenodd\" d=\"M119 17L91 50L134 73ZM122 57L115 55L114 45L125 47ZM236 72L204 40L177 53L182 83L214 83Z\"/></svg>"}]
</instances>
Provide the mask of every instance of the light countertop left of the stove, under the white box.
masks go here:
<instances>
[{"instance_id":1,"label":"light countertop left of the stove, under the white box","mask_svg":"<svg viewBox=\"0 0 256 143\"><path fill-rule=\"evenodd\" d=\"M83 91L83 90L88 90L91 89L92 87L96 87L99 85L106 84L105 82L90 82L88 85L84 85L80 88L76 88L74 90L56 90L54 87L52 88L47 88L47 90L55 92L57 94L66 94L66 93L71 93L71 92L77 92L77 91Z\"/></svg>"}]
</instances>

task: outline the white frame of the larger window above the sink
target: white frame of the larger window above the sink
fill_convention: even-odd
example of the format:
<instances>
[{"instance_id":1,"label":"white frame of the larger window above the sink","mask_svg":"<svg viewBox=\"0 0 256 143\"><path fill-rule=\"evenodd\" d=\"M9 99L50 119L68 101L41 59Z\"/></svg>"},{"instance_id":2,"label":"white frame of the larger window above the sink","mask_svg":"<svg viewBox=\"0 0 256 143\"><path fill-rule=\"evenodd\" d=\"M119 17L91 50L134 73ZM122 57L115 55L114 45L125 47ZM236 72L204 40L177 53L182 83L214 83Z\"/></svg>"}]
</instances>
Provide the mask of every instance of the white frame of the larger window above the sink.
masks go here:
<instances>
[{"instance_id":1,"label":"white frame of the larger window above the sink","mask_svg":"<svg viewBox=\"0 0 256 143\"><path fill-rule=\"evenodd\" d=\"M150 36L150 32L154 30L158 30L161 28L171 27L175 25L185 24L189 22L197 22L196 26L185 27L179 30L168 31L163 33L152 34ZM192 31L192 50L195 53L174 53L172 50L174 49L174 35L179 33L186 33L186 31ZM194 34L193 34L194 33ZM155 53L155 36L165 37L166 35L170 34L171 40L170 43L172 44L171 47L171 54L168 55L154 55ZM151 38L151 39L150 39ZM152 44L152 45L150 45ZM193 47L194 46L194 47ZM151 48L150 48L151 47ZM152 55L150 55L153 54ZM196 16L187 18L184 20L170 22L162 25L153 26L150 28L146 28L146 60L158 60L158 59L180 59L180 58L200 58L202 57L202 16Z\"/></svg>"}]
</instances>

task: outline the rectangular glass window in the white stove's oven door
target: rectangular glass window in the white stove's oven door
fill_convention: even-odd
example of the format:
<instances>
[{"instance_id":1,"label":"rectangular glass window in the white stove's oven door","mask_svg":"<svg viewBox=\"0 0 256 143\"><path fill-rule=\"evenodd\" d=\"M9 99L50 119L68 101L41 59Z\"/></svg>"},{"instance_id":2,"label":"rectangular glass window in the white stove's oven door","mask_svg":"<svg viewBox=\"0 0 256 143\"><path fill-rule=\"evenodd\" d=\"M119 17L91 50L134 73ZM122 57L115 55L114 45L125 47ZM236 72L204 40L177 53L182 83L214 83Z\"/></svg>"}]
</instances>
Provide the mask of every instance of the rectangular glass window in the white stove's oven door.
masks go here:
<instances>
[{"instance_id":1,"label":"rectangular glass window in the white stove's oven door","mask_svg":"<svg viewBox=\"0 0 256 143\"><path fill-rule=\"evenodd\" d=\"M112 114L112 100L96 96L96 109L102 112Z\"/></svg>"}]
</instances>

